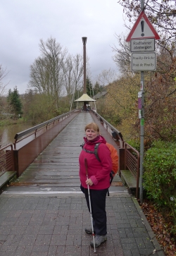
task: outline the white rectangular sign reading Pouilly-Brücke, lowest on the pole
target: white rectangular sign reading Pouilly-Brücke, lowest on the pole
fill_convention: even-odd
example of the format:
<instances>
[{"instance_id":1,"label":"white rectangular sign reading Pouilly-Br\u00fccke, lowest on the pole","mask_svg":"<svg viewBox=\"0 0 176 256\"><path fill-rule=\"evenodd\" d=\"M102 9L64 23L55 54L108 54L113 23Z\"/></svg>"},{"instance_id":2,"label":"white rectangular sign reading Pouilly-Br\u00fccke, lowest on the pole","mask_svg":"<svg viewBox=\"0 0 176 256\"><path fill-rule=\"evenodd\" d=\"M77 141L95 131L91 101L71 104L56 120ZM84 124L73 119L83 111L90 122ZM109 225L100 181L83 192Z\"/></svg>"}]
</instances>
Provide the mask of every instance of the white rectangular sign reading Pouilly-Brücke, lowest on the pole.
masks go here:
<instances>
[{"instance_id":1,"label":"white rectangular sign reading Pouilly-Br\u00fccke, lowest on the pole","mask_svg":"<svg viewBox=\"0 0 176 256\"><path fill-rule=\"evenodd\" d=\"M136 52L131 57L132 71L156 71L155 52Z\"/></svg>"}]
</instances>

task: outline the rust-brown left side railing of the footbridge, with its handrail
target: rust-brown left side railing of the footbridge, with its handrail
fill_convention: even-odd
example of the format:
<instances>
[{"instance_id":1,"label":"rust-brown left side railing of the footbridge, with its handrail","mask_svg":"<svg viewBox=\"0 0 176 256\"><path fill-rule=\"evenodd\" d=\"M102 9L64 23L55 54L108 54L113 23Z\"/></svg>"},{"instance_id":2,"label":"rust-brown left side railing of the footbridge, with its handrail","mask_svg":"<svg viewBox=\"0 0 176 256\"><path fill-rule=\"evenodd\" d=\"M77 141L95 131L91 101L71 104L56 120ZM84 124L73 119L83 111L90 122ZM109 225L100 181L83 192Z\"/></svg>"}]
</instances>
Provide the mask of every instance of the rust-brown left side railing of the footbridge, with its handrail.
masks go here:
<instances>
[{"instance_id":1,"label":"rust-brown left side railing of the footbridge, with its handrail","mask_svg":"<svg viewBox=\"0 0 176 256\"><path fill-rule=\"evenodd\" d=\"M7 163L13 162L12 171L16 172L17 177L20 176L78 113L80 110L69 111L17 133L13 144L0 148L0 173L3 175L9 171Z\"/></svg>"}]
</instances>

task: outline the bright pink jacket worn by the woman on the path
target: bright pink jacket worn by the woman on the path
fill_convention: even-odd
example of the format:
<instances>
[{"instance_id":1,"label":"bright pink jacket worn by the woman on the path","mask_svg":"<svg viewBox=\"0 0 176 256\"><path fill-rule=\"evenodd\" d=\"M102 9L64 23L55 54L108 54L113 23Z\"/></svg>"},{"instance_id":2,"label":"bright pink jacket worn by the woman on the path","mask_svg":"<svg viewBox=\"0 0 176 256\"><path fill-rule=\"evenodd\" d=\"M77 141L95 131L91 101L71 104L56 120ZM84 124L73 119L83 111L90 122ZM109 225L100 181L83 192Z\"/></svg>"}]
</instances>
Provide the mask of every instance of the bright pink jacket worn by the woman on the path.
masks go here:
<instances>
[{"instance_id":1,"label":"bright pink jacket worn by the woman on the path","mask_svg":"<svg viewBox=\"0 0 176 256\"><path fill-rule=\"evenodd\" d=\"M88 178L92 180L93 185L89 185L89 189L101 190L109 188L110 173L112 170L111 152L106 146L106 140L99 135L94 140L84 138L84 148L94 151L94 145L101 143L98 148L99 161L94 154L82 150L79 157L80 162L80 181L84 188L87 188L85 181L87 180L84 159L87 159Z\"/></svg>"}]
</instances>

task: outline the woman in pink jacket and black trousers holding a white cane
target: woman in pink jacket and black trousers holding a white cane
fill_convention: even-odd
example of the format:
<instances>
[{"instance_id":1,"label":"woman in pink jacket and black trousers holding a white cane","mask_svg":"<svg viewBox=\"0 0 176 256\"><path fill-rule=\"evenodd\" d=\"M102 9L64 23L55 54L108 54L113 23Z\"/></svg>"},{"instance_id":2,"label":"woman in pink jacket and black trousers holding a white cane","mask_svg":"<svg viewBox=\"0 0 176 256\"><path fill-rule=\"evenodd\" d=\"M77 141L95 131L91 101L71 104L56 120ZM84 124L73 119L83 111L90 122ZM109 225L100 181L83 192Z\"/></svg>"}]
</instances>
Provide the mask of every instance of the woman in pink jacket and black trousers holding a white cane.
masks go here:
<instances>
[{"instance_id":1,"label":"woman in pink jacket and black trousers holding a white cane","mask_svg":"<svg viewBox=\"0 0 176 256\"><path fill-rule=\"evenodd\" d=\"M99 247L101 243L107 240L106 233L106 194L110 185L110 173L112 169L111 153L106 146L106 140L99 135L99 126L96 123L89 123L84 128L84 146L80 153L80 181L81 189L87 200L89 208L89 195L92 205L92 218L95 236L95 246ZM94 146L99 144L98 154L99 159L96 159L95 154L90 154L88 151L94 152ZM86 168L84 159L87 159L88 178L86 176ZM92 233L92 228L85 228L86 233ZM90 243L94 247L93 240Z\"/></svg>"}]
</instances>

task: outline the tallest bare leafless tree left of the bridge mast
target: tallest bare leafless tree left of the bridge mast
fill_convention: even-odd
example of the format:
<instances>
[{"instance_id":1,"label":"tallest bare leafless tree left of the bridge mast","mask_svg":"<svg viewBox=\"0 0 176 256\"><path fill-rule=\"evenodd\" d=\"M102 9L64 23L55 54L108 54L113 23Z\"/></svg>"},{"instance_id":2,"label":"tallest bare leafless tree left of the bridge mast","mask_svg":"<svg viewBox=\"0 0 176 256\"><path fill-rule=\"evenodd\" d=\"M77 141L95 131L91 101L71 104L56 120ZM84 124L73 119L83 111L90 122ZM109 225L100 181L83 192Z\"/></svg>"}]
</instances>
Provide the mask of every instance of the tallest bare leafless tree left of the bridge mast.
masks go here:
<instances>
[{"instance_id":1,"label":"tallest bare leafless tree left of the bridge mast","mask_svg":"<svg viewBox=\"0 0 176 256\"><path fill-rule=\"evenodd\" d=\"M42 56L30 66L29 84L37 88L39 93L53 95L58 109L64 79L63 61L68 51L52 37L46 42L40 39L39 49Z\"/></svg>"}]
</instances>

